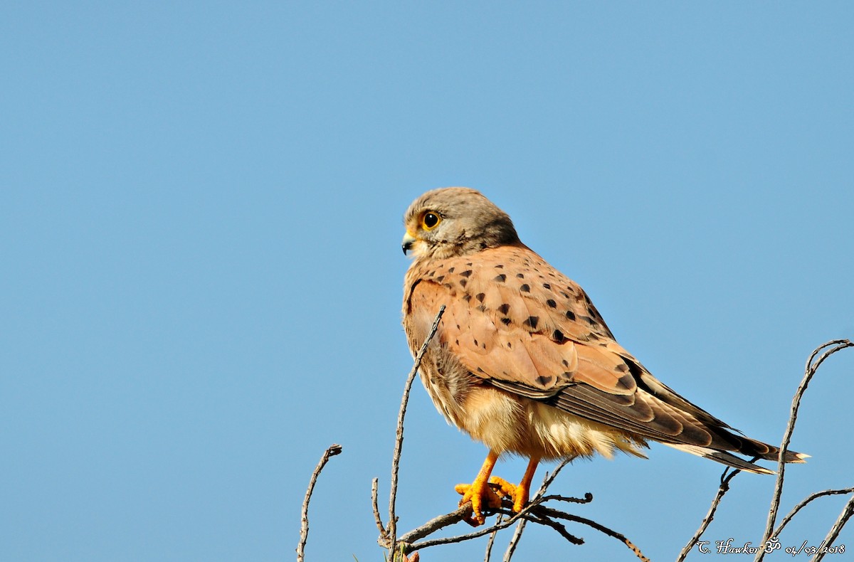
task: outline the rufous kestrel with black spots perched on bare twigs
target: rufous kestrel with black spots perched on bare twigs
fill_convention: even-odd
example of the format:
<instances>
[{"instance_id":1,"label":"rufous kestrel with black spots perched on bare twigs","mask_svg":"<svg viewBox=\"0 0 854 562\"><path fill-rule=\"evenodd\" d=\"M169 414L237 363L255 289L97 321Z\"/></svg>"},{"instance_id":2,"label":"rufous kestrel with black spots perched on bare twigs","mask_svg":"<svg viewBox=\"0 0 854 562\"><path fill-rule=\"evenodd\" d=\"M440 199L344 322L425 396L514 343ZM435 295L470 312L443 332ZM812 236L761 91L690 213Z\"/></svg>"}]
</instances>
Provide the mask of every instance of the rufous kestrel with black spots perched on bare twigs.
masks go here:
<instances>
[{"instance_id":1,"label":"rufous kestrel with black spots perched on bare twigs","mask_svg":"<svg viewBox=\"0 0 854 562\"><path fill-rule=\"evenodd\" d=\"M543 460L646 458L651 441L773 473L755 461L778 460L778 448L653 377L617 343L587 293L522 243L510 216L481 192L427 191L404 226L401 248L412 263L402 323L413 356L445 307L419 378L447 421L488 448L474 481L456 486L459 505L471 501L471 524L483 524L483 511L499 507L502 495L521 511ZM518 485L492 476L506 454L529 460ZM785 460L808 456L787 451Z\"/></svg>"}]
</instances>

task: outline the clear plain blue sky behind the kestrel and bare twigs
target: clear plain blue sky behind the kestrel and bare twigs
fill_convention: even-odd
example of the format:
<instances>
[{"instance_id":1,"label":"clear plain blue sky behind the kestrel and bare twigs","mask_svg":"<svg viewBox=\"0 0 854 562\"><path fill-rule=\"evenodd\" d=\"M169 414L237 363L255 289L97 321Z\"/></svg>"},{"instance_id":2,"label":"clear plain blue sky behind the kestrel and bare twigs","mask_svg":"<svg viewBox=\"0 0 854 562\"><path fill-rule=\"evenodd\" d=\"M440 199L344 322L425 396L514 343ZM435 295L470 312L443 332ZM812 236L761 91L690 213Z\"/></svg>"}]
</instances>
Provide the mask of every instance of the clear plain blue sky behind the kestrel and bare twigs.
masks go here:
<instances>
[{"instance_id":1,"label":"clear plain blue sky behind the kestrel and bare twigs","mask_svg":"<svg viewBox=\"0 0 854 562\"><path fill-rule=\"evenodd\" d=\"M401 215L445 185L504 208L664 383L780 442L806 356L854 336L852 25L845 2L4 3L0 559L293 559L337 442L307 560L381 560ZM810 386L784 511L854 485L852 369ZM416 386L401 530L485 454ZM554 490L673 559L722 466L649 456ZM758 542L772 487L737 477L707 538ZM781 541L821 542L843 503ZM570 532L514 559L633 559Z\"/></svg>"}]
</instances>

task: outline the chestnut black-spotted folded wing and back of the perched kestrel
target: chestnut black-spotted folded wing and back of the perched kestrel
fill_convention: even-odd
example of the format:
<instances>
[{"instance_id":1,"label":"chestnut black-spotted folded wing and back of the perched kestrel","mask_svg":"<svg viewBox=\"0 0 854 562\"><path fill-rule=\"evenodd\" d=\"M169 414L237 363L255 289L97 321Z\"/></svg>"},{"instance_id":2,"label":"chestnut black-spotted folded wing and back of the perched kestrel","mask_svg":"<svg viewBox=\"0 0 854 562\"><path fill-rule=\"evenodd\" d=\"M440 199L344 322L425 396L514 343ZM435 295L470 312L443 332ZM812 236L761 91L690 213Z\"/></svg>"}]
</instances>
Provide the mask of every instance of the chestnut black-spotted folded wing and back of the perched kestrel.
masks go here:
<instances>
[{"instance_id":1,"label":"chestnut black-spotted folded wing and back of the perched kestrel","mask_svg":"<svg viewBox=\"0 0 854 562\"><path fill-rule=\"evenodd\" d=\"M757 467L722 451L775 458L775 448L734 435L652 377L584 291L530 249L504 246L434 265L418 272L407 301L447 306L440 341L484 381L747 470Z\"/></svg>"}]
</instances>

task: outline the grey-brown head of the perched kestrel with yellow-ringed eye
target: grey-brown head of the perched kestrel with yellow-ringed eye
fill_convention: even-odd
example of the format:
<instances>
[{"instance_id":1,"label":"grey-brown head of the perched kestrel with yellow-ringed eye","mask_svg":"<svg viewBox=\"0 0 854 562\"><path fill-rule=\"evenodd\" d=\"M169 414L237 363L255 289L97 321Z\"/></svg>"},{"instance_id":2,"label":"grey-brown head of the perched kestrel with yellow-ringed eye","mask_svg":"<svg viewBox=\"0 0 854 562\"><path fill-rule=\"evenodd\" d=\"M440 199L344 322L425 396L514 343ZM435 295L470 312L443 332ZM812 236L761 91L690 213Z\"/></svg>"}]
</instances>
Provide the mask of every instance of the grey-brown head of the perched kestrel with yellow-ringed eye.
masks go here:
<instances>
[{"instance_id":1,"label":"grey-brown head of the perched kestrel with yellow-ringed eye","mask_svg":"<svg viewBox=\"0 0 854 562\"><path fill-rule=\"evenodd\" d=\"M446 187L418 197L403 217L403 253L448 258L519 243L510 217L480 191Z\"/></svg>"}]
</instances>

